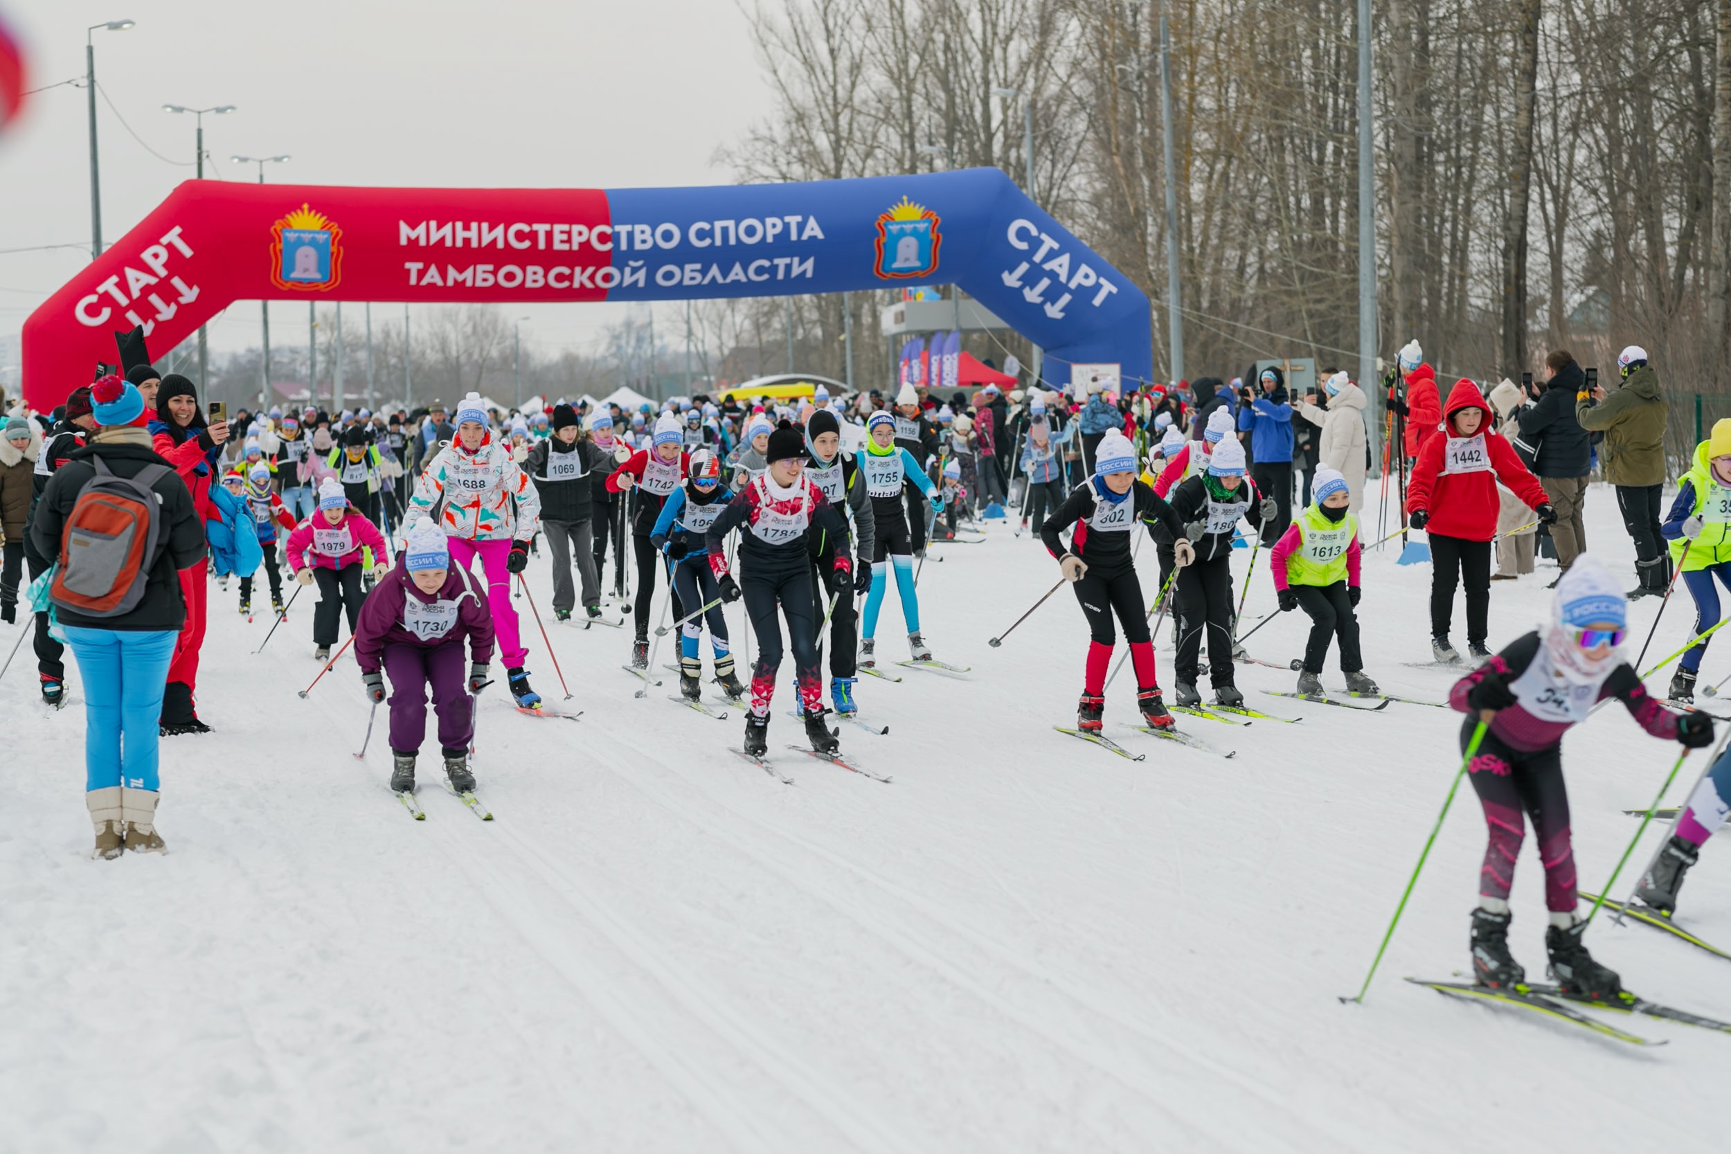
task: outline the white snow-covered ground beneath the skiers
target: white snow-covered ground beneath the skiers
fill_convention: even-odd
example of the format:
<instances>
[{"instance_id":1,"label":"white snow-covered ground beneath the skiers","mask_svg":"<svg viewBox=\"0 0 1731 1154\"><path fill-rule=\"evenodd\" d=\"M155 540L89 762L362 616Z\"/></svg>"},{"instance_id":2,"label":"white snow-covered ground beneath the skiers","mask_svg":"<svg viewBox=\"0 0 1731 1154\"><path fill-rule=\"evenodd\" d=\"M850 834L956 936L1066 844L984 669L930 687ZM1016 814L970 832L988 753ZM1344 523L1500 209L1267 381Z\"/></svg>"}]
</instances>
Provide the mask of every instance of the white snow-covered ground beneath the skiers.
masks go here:
<instances>
[{"instance_id":1,"label":"white snow-covered ground beneath the skiers","mask_svg":"<svg viewBox=\"0 0 1731 1154\"><path fill-rule=\"evenodd\" d=\"M1610 490L1587 526L1632 585ZM585 713L524 718L488 692L485 825L426 787L433 756L428 820L405 815L383 716L355 761L351 659L296 697L317 671L308 597L253 656L268 619L211 590L199 709L216 734L164 742L161 858L88 858L76 668L50 713L26 645L0 685L0 1151L1653 1149L1636 1104L1663 1107L1665 1149L1721 1132L1731 1038L1618 1019L1670 1040L1636 1050L1400 981L1466 965L1483 822L1464 785L1367 1002L1336 1000L1458 766L1456 715L1269 697L1295 675L1243 666L1250 704L1303 723L1181 716L1229 761L1129 730L1125 673L1106 723L1148 753L1130 763L1052 732L1082 682L1068 590L987 645L1058 578L1039 545L1004 526L942 557L921 580L926 637L973 675L867 678L890 735L841 732L893 785L788 751L786 689L770 749L798 784L770 780L727 753L737 709L668 702L670 675L632 697L628 630L549 623L575 694L559 702L519 602L537 687ZM1366 564L1367 671L1440 701L1451 676L1406 664L1428 659L1430 567L1393 559ZM1153 550L1139 561L1153 597ZM1265 564L1246 628L1274 609ZM1544 616L1551 576L1494 585L1494 647ZM545 559L530 578L550 616ZM1657 609L1632 609L1631 652ZM1650 661L1686 640L1689 609L1679 593ZM1305 628L1293 612L1250 649L1286 661ZM900 631L891 593L891 657ZM1170 664L1162 644L1168 689ZM1568 737L1584 888L1674 756L1620 708ZM1542 972L1530 844L1515 910L1515 953ZM1731 943L1731 849L1707 849L1684 914ZM1731 1017L1731 964L1605 919L1589 945L1639 993Z\"/></svg>"}]
</instances>

